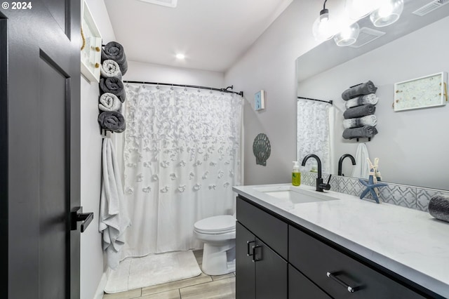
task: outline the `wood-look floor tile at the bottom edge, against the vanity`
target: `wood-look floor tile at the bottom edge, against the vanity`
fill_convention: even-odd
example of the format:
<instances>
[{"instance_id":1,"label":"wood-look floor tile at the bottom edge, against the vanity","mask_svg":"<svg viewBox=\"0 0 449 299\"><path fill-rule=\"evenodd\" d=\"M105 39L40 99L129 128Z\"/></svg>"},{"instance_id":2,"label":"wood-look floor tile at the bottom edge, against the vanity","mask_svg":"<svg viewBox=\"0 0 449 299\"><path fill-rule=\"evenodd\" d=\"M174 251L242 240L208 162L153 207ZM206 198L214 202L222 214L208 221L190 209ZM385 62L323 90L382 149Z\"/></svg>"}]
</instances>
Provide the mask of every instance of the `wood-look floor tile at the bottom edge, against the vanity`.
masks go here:
<instances>
[{"instance_id":1,"label":"wood-look floor tile at the bottom edge, against the vanity","mask_svg":"<svg viewBox=\"0 0 449 299\"><path fill-rule=\"evenodd\" d=\"M235 277L180 288L182 299L235 299Z\"/></svg>"}]
</instances>

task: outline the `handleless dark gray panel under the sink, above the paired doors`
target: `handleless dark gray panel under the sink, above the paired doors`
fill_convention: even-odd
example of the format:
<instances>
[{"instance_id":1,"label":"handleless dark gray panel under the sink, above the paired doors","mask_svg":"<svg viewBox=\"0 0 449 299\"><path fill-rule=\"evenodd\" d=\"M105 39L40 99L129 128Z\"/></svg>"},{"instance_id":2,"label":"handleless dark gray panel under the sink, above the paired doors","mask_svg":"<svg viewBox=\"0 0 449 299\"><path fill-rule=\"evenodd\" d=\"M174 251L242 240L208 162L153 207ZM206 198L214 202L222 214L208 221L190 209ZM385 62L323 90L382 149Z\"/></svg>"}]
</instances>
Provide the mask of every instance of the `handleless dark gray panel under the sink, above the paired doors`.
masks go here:
<instances>
[{"instance_id":1,"label":"handleless dark gray panel under the sink, above the paired doors","mask_svg":"<svg viewBox=\"0 0 449 299\"><path fill-rule=\"evenodd\" d=\"M288 224L237 197L237 220L287 259Z\"/></svg>"}]
</instances>

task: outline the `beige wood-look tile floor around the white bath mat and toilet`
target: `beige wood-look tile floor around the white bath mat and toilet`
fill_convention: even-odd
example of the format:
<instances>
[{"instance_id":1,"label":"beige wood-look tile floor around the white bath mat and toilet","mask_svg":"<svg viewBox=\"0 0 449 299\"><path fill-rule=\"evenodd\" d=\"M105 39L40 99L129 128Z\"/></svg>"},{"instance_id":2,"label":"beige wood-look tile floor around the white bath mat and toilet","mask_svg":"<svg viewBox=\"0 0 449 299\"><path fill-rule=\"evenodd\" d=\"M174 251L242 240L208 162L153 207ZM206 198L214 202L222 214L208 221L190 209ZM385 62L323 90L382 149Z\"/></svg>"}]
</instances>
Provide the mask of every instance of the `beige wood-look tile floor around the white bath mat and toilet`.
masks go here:
<instances>
[{"instance_id":1,"label":"beige wood-look tile floor around the white bath mat and toilet","mask_svg":"<svg viewBox=\"0 0 449 299\"><path fill-rule=\"evenodd\" d=\"M201 267L203 251L194 251L196 261ZM104 299L235 299L235 272L210 276L201 274L198 277L182 279L158 284L146 288L126 291L122 293L105 294Z\"/></svg>"}]
</instances>

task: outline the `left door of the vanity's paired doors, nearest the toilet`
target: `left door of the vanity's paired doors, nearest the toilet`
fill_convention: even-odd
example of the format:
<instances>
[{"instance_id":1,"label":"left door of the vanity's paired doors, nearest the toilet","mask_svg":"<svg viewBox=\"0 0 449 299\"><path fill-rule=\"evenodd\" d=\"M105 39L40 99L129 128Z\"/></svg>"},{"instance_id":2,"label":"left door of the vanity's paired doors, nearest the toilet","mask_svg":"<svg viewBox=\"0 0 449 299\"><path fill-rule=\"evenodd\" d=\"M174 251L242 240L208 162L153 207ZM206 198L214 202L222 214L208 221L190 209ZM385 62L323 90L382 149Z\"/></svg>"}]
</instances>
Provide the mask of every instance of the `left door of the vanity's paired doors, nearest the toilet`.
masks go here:
<instances>
[{"instance_id":1,"label":"left door of the vanity's paired doors, nearest the toilet","mask_svg":"<svg viewBox=\"0 0 449 299\"><path fill-rule=\"evenodd\" d=\"M236 222L236 299L255 299L254 234Z\"/></svg>"}]
</instances>

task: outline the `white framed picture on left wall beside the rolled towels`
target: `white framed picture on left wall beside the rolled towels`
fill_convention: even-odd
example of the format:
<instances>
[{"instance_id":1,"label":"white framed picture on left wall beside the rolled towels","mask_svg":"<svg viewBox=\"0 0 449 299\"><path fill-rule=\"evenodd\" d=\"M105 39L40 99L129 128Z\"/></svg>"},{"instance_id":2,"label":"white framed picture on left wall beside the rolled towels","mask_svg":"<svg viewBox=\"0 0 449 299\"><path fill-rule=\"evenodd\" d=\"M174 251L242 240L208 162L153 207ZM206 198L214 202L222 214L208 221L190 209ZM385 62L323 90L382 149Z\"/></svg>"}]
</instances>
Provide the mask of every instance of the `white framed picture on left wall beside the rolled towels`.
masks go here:
<instances>
[{"instance_id":1,"label":"white framed picture on left wall beside the rolled towels","mask_svg":"<svg viewBox=\"0 0 449 299\"><path fill-rule=\"evenodd\" d=\"M83 1L81 18L81 74L89 81L100 82L102 39L91 11Z\"/></svg>"}]
</instances>

